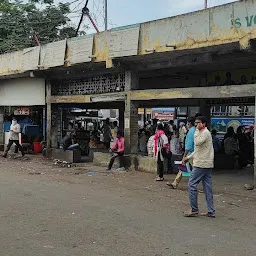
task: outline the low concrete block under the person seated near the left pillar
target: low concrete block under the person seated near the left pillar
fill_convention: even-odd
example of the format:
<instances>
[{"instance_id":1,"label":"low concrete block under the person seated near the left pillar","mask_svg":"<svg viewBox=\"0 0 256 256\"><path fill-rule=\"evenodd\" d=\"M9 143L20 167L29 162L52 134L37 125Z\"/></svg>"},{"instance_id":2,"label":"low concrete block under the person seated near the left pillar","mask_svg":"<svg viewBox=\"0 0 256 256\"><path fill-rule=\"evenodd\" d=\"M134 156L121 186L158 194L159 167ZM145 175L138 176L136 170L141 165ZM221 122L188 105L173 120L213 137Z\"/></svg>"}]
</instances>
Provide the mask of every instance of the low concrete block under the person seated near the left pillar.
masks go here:
<instances>
[{"instance_id":1,"label":"low concrete block under the person seated near the left pillar","mask_svg":"<svg viewBox=\"0 0 256 256\"><path fill-rule=\"evenodd\" d=\"M81 151L80 150L62 150L56 148L50 148L46 151L47 157L66 161L68 163L80 163L81 162Z\"/></svg>"}]
</instances>

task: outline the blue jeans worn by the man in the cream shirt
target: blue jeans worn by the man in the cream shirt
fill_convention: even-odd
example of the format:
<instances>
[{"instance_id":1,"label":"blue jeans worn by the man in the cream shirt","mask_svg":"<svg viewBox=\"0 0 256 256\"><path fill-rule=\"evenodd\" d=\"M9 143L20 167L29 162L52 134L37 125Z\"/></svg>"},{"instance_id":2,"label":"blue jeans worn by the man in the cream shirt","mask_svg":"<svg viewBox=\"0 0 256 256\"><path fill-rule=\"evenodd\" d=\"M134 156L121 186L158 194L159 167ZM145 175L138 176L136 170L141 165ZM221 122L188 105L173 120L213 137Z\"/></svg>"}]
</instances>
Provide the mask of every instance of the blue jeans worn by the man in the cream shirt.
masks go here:
<instances>
[{"instance_id":1,"label":"blue jeans worn by the man in the cream shirt","mask_svg":"<svg viewBox=\"0 0 256 256\"><path fill-rule=\"evenodd\" d=\"M197 186L202 181L208 213L215 213L212 194L212 169L194 167L188 181L189 200L192 211L198 211Z\"/></svg>"}]
</instances>

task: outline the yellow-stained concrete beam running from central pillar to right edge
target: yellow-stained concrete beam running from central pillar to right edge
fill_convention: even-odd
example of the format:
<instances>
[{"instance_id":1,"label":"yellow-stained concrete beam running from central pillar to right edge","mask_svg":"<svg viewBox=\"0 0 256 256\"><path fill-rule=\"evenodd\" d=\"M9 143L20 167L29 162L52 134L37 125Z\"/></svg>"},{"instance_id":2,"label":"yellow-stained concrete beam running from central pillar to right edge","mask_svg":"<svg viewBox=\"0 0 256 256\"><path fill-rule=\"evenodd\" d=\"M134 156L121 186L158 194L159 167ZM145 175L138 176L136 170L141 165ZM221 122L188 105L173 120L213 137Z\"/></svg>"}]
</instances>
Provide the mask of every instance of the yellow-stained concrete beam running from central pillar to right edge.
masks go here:
<instances>
[{"instance_id":1,"label":"yellow-stained concrete beam running from central pillar to right edge","mask_svg":"<svg viewBox=\"0 0 256 256\"><path fill-rule=\"evenodd\" d=\"M211 87L190 87L172 89L138 90L131 92L131 100L161 99L214 99L232 97L252 97L256 95L256 85L230 85Z\"/></svg>"}]
</instances>

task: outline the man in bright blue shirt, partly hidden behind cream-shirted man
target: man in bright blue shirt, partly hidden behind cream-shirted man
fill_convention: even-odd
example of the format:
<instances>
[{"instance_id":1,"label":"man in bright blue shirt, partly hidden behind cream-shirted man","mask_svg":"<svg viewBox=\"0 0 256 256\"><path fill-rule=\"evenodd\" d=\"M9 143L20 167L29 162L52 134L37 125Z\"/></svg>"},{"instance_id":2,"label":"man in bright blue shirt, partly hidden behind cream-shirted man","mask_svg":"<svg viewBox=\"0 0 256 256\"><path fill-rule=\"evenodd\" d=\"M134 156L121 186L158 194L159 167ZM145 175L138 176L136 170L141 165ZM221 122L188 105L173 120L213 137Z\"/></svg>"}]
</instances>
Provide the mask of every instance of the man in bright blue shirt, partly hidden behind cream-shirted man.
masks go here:
<instances>
[{"instance_id":1,"label":"man in bright blue shirt, partly hidden behind cream-shirted man","mask_svg":"<svg viewBox=\"0 0 256 256\"><path fill-rule=\"evenodd\" d=\"M183 155L183 159L189 155L191 155L194 152L194 134L196 131L196 127L195 127L195 118L194 117L189 117L187 120L187 124L188 124L188 134L186 136L186 140L185 140L185 152ZM192 160L190 160L190 164L193 166L192 164ZM179 172L177 173L174 181L172 183L167 182L167 185L170 186L173 189L177 189L180 181L182 179L182 171L179 170Z\"/></svg>"}]
</instances>

